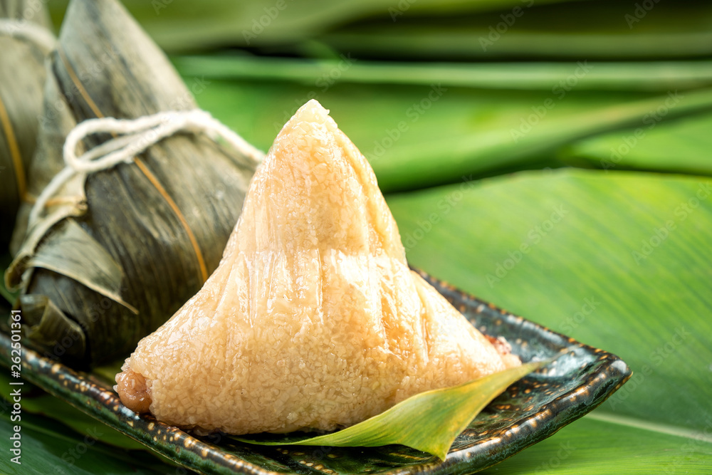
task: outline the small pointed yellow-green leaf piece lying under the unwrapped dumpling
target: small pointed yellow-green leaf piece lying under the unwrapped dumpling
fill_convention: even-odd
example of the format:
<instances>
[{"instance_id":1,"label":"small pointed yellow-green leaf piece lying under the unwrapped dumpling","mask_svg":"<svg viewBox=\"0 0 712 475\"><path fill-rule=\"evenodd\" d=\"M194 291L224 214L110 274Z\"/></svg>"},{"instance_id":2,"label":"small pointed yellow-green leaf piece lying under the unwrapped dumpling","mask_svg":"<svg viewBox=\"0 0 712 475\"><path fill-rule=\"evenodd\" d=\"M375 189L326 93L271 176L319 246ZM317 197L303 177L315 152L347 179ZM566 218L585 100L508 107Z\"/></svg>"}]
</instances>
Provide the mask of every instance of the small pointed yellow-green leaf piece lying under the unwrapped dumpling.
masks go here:
<instances>
[{"instance_id":1,"label":"small pointed yellow-green leaf piece lying under the unwrapped dumpling","mask_svg":"<svg viewBox=\"0 0 712 475\"><path fill-rule=\"evenodd\" d=\"M491 400L513 382L546 363L529 362L463 385L422 392L377 416L333 434L305 439L236 439L260 445L379 447L401 444L444 460L455 438ZM414 424L414 421L418 423Z\"/></svg>"}]
</instances>

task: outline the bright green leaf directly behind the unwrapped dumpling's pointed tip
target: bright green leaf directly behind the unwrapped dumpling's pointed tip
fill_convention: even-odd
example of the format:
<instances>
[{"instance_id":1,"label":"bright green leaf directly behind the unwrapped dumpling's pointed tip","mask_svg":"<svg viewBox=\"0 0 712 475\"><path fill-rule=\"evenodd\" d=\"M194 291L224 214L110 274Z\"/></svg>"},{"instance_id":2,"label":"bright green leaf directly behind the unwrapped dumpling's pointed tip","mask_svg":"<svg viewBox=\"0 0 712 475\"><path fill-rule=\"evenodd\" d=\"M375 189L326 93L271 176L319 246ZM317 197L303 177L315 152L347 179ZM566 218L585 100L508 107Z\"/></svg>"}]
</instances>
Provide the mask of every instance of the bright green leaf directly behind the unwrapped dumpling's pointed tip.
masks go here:
<instances>
[{"instance_id":1,"label":"bright green leaf directly behind the unwrapped dumpling's pointed tip","mask_svg":"<svg viewBox=\"0 0 712 475\"><path fill-rule=\"evenodd\" d=\"M575 71L571 68L570 74ZM382 192L560 166L554 160L557 153L577 140L649 127L651 121L661 126L712 108L709 88L655 97L640 91L565 93L556 83L551 84L554 90L482 90L368 83L328 87L329 75L314 79L299 85L293 80L211 78L197 100L246 140L266 148L298 106L318 98L370 161ZM375 97L379 100L370 99ZM421 108L424 100L427 110Z\"/></svg>"}]
</instances>

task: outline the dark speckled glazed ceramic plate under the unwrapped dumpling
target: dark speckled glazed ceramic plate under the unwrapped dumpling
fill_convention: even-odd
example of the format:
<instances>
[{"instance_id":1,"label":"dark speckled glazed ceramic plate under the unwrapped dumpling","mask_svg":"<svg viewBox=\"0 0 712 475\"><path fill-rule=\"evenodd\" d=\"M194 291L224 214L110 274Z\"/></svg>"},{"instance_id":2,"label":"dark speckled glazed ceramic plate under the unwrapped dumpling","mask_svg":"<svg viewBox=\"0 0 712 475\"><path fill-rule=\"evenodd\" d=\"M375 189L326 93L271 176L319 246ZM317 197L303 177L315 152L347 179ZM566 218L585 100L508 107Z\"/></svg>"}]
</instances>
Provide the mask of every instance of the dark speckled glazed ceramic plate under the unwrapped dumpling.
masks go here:
<instances>
[{"instance_id":1,"label":"dark speckled glazed ceramic plate under the unwrapped dumpling","mask_svg":"<svg viewBox=\"0 0 712 475\"><path fill-rule=\"evenodd\" d=\"M502 335L523 361L555 362L516 382L455 440L446 460L402 446L375 448L260 447L224 434L199 437L139 416L111 386L83 372L23 351L23 378L203 474L470 474L549 437L597 407L630 376L617 356L578 343L422 274L486 335ZM0 362L10 340L0 335Z\"/></svg>"}]
</instances>

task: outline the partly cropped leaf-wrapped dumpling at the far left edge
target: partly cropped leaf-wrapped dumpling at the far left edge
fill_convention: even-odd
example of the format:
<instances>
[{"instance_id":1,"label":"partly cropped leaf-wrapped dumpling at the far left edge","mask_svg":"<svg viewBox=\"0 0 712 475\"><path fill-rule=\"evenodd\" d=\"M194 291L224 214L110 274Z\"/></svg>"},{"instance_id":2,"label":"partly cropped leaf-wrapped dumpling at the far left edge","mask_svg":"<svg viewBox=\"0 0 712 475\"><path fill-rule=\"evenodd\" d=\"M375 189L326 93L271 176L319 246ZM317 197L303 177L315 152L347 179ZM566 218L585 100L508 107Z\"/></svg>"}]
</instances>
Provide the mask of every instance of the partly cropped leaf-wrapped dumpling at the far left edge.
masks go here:
<instances>
[{"instance_id":1,"label":"partly cropped leaf-wrapped dumpling at the far left edge","mask_svg":"<svg viewBox=\"0 0 712 475\"><path fill-rule=\"evenodd\" d=\"M42 113L47 41L51 38L42 2L0 1L0 247L6 252L15 216L26 196L26 174L35 152ZM30 34L25 34L31 31Z\"/></svg>"}]
</instances>

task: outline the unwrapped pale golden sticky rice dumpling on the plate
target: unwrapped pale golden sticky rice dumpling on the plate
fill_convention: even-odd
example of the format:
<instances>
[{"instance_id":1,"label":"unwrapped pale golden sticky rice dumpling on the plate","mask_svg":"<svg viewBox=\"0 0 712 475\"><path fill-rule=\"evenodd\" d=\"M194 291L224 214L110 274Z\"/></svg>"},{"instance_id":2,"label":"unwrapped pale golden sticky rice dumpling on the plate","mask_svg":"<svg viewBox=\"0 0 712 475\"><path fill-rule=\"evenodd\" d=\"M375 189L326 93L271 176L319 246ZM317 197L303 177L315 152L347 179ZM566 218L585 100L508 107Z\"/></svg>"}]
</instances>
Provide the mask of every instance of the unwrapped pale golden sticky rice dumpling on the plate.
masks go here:
<instances>
[{"instance_id":1,"label":"unwrapped pale golden sticky rice dumpling on the plate","mask_svg":"<svg viewBox=\"0 0 712 475\"><path fill-rule=\"evenodd\" d=\"M312 100L203 288L117 375L127 407L233 434L335 429L519 365L411 271L373 170Z\"/></svg>"}]
</instances>

